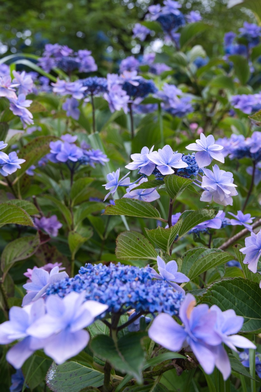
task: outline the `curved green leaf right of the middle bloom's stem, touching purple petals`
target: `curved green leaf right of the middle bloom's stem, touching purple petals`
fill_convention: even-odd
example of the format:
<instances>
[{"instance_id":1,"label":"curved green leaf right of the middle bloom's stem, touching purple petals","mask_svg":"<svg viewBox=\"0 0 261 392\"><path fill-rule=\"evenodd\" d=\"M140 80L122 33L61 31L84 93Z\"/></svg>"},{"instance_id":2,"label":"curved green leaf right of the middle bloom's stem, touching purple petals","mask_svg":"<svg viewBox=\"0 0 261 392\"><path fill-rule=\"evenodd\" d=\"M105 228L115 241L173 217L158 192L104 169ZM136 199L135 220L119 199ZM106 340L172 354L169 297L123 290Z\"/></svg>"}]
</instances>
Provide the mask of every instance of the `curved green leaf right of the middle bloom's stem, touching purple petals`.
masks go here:
<instances>
[{"instance_id":1,"label":"curved green leaf right of the middle bloom's stem, touching purple petals","mask_svg":"<svg viewBox=\"0 0 261 392\"><path fill-rule=\"evenodd\" d=\"M184 211L180 216L180 219L183 220L183 224L179 230L179 238L184 236L184 234L186 234L196 225L199 225L199 223L214 218L216 214L217 210L214 208L201 208L195 211Z\"/></svg>"}]
</instances>

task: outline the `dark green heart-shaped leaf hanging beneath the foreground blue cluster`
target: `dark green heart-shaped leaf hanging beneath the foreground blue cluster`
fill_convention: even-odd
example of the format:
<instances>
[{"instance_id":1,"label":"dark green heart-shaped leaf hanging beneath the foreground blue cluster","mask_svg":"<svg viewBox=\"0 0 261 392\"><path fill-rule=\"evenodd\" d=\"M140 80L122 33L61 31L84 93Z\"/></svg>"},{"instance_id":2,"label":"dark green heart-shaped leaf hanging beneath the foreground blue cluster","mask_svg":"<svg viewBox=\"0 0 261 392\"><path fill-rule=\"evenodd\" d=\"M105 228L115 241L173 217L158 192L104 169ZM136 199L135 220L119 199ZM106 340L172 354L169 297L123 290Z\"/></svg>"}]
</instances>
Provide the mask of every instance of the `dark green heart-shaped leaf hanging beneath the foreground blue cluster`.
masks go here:
<instances>
[{"instance_id":1,"label":"dark green heart-shaped leaf hanging beneath the foreground blue cluster","mask_svg":"<svg viewBox=\"0 0 261 392\"><path fill-rule=\"evenodd\" d=\"M142 382L142 364L145 351L141 345L143 332L133 332L116 343L110 336L98 335L91 341L91 349L100 359L110 362L117 370L131 374L138 383Z\"/></svg>"}]
</instances>

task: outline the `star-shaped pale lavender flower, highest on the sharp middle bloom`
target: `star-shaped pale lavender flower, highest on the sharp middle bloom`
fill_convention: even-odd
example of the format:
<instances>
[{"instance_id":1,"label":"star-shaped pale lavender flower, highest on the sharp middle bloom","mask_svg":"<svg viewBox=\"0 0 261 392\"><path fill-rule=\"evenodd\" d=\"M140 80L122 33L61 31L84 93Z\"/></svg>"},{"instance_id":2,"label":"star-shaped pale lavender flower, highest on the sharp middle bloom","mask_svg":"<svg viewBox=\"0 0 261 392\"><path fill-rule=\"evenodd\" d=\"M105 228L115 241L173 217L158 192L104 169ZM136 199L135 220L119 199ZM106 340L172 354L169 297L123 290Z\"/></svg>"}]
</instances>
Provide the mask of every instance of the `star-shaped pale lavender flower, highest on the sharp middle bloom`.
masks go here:
<instances>
[{"instance_id":1,"label":"star-shaped pale lavender flower, highest on the sharp middle bloom","mask_svg":"<svg viewBox=\"0 0 261 392\"><path fill-rule=\"evenodd\" d=\"M224 163L224 155L222 152L219 152L223 149L223 146L215 144L215 139L212 135L206 137L201 133L200 139L197 139L196 143L191 143L186 146L186 149L197 151L195 160L199 167L210 165L212 158Z\"/></svg>"}]
</instances>

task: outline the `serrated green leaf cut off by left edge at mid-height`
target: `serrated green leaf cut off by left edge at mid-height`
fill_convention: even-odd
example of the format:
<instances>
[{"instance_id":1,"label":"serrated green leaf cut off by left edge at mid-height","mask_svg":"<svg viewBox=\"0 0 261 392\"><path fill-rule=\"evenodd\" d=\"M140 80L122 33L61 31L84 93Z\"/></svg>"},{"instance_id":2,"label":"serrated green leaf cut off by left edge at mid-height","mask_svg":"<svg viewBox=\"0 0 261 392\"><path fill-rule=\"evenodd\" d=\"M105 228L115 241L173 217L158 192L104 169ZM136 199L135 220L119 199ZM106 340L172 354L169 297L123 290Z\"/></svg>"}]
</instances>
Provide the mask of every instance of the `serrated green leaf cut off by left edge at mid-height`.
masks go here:
<instances>
[{"instance_id":1,"label":"serrated green leaf cut off by left edge at mid-height","mask_svg":"<svg viewBox=\"0 0 261 392\"><path fill-rule=\"evenodd\" d=\"M0 204L0 227L7 223L15 223L16 225L34 226L33 220L18 205L2 203Z\"/></svg>"}]
</instances>

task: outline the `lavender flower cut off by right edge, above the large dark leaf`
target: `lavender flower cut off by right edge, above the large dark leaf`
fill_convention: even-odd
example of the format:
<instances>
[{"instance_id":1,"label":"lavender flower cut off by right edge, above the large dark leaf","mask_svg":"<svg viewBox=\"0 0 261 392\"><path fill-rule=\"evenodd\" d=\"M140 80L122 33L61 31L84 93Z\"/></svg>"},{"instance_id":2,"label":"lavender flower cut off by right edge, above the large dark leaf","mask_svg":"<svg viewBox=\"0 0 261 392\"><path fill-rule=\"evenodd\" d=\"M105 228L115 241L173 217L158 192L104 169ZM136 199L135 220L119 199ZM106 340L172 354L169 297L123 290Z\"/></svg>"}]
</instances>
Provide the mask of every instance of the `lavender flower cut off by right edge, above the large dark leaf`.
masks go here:
<instances>
[{"instance_id":1,"label":"lavender flower cut off by right edge, above the large dark leaf","mask_svg":"<svg viewBox=\"0 0 261 392\"><path fill-rule=\"evenodd\" d=\"M248 269L256 273L261 256L261 230L257 234L252 232L250 237L245 238L245 248L241 248L240 252L246 255L243 263L248 264Z\"/></svg>"}]
</instances>

